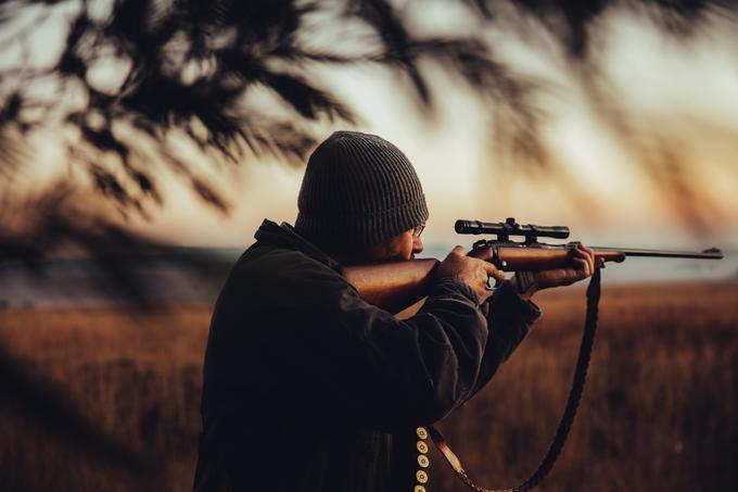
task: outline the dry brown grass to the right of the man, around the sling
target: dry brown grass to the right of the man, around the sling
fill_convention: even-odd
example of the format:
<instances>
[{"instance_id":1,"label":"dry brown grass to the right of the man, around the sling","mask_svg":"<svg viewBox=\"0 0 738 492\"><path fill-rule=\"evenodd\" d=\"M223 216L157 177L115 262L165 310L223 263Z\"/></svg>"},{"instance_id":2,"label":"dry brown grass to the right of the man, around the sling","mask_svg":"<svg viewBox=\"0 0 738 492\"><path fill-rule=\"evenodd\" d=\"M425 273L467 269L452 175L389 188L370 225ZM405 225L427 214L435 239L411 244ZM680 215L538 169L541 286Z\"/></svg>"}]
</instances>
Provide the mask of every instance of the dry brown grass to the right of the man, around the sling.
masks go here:
<instances>
[{"instance_id":1,"label":"dry brown grass to the right of the man, around the sling","mask_svg":"<svg viewBox=\"0 0 738 492\"><path fill-rule=\"evenodd\" d=\"M535 469L571 384L584 292L537 301L535 331L441 426L484 487ZM737 368L738 285L606 288L580 413L540 490L738 490ZM437 490L465 490L445 464L434 471Z\"/></svg>"}]
</instances>

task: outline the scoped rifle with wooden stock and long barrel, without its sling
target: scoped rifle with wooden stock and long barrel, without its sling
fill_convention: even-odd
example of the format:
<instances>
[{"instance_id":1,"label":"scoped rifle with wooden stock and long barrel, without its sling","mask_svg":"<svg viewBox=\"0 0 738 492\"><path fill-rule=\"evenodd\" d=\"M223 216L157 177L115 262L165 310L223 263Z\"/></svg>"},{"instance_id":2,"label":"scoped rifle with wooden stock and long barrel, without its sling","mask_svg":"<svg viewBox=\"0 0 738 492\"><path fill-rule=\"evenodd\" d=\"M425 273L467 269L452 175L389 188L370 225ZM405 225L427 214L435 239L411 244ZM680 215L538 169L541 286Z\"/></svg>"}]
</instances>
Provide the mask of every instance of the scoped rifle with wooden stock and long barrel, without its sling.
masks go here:
<instances>
[{"instance_id":1,"label":"scoped rifle with wooden stock and long barrel, without its sling","mask_svg":"<svg viewBox=\"0 0 738 492\"><path fill-rule=\"evenodd\" d=\"M495 239L481 239L473 243L469 256L485 260L502 272L543 270L561 268L569 264L570 251L576 242L547 244L538 238L569 238L569 227L520 225L510 217L504 223L480 220L456 220L455 230L461 235L493 235ZM511 236L522 237L513 241ZM723 253L711 248L702 252L644 250L634 248L593 247L596 258L603 262L621 263L626 257L680 257L698 260L721 260ZM425 297L433 283L435 268L441 263L435 258L408 260L400 262L347 265L343 274L361 298L369 304L391 313L415 304Z\"/></svg>"}]
</instances>

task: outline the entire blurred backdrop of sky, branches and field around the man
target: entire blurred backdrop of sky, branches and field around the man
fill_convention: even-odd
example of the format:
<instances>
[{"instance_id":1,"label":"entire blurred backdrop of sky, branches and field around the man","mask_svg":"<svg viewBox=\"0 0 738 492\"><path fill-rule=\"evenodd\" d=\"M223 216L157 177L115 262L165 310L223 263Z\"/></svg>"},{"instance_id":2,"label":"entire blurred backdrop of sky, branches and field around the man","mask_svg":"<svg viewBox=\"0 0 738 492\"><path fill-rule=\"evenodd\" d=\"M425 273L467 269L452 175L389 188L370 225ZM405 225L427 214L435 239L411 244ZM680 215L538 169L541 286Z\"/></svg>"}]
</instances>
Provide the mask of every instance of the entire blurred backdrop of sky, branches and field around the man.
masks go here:
<instances>
[{"instance_id":1,"label":"entire blurred backdrop of sky, branches and field around the man","mask_svg":"<svg viewBox=\"0 0 738 492\"><path fill-rule=\"evenodd\" d=\"M188 490L212 303L292 223L335 129L415 164L431 217L703 250L603 272L601 331L546 491L735 490L738 16L723 1L0 2L0 480ZM512 487L563 408L578 286L441 424ZM504 399L492 399L492 394ZM431 455L430 490L463 490Z\"/></svg>"}]
</instances>

